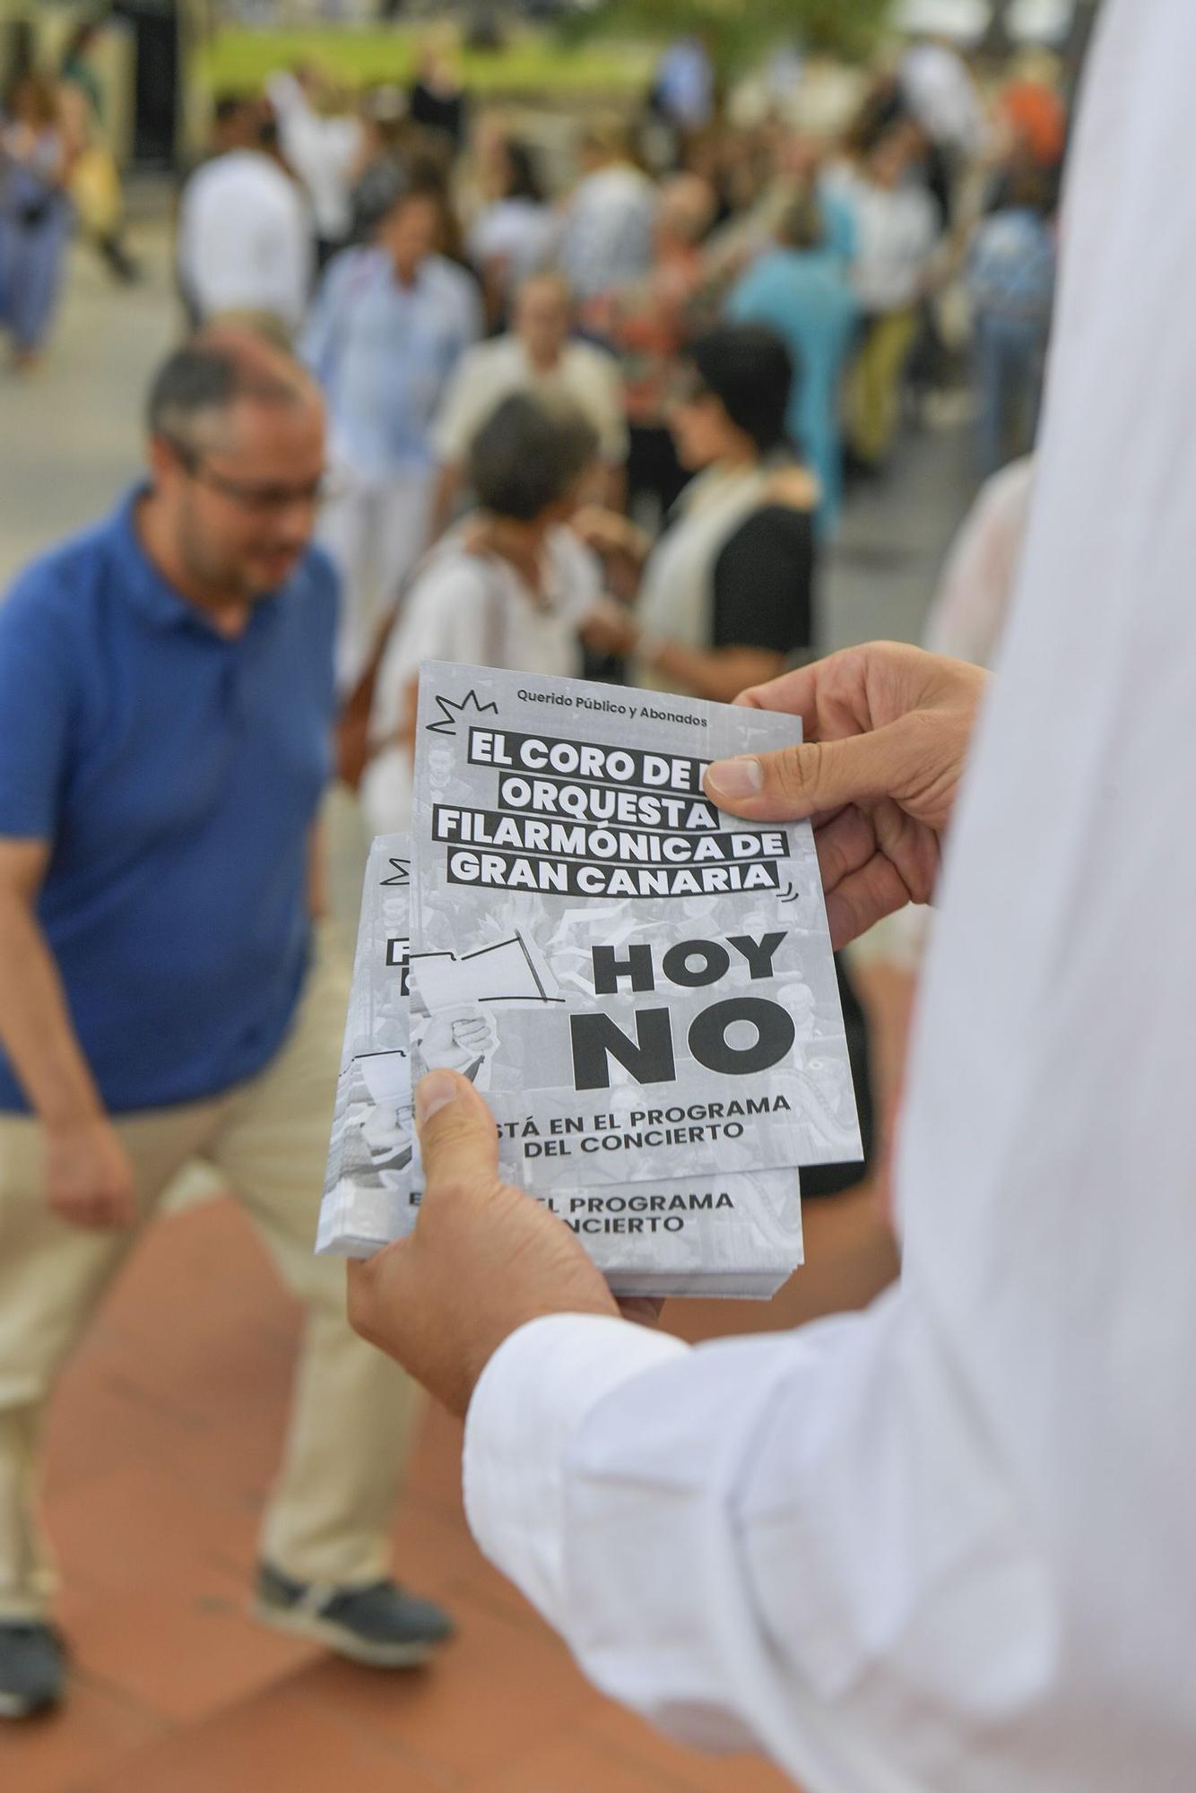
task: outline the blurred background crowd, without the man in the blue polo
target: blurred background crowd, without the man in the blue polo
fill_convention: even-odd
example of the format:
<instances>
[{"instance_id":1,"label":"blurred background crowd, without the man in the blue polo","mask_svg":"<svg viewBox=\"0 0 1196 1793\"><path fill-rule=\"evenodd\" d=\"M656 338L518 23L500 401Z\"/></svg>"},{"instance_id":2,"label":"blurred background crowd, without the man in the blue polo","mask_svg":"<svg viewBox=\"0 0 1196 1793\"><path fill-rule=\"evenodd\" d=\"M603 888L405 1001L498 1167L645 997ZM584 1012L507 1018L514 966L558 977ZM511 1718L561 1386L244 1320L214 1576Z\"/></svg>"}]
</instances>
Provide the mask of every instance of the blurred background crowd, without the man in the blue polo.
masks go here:
<instances>
[{"instance_id":1,"label":"blurred background crowd, without the man in the blue polo","mask_svg":"<svg viewBox=\"0 0 1196 1793\"><path fill-rule=\"evenodd\" d=\"M9 120L29 355L16 319L25 285L52 287L70 152L45 81ZM572 151L477 108L443 39L407 90L296 66L217 97L179 294L194 325L292 344L325 389L344 769L371 825L405 819L420 658L730 697L814 645L845 488L884 477L906 416L970 380L977 473L1024 455L1063 147L1042 56L981 88L934 41L819 138L726 124L699 39Z\"/></svg>"}]
</instances>

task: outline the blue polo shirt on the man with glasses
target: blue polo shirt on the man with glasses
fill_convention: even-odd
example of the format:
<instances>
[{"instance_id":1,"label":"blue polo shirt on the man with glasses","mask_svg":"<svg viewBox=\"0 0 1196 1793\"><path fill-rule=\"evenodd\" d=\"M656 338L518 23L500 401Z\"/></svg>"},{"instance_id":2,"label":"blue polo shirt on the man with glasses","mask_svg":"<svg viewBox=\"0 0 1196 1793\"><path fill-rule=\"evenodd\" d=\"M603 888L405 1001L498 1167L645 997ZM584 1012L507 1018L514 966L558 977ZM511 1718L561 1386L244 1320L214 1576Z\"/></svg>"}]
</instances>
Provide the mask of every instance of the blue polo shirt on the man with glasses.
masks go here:
<instances>
[{"instance_id":1,"label":"blue polo shirt on the man with glasses","mask_svg":"<svg viewBox=\"0 0 1196 1793\"><path fill-rule=\"evenodd\" d=\"M140 493L0 604L0 836L52 841L38 916L113 1113L260 1070L308 959L335 574L310 549L224 640L147 559ZM0 1110L25 1110L0 1052Z\"/></svg>"}]
</instances>

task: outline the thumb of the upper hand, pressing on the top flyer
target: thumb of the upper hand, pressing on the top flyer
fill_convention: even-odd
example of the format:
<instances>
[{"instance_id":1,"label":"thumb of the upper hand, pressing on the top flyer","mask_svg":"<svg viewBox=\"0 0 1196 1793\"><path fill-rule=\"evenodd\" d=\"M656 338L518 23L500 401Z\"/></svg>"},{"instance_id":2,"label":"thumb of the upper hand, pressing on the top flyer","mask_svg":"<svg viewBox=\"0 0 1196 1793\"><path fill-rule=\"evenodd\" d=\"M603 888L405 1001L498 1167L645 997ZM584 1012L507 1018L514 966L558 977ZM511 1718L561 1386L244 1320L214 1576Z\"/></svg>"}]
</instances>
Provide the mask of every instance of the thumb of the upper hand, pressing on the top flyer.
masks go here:
<instances>
[{"instance_id":1,"label":"thumb of the upper hand, pressing on the top flyer","mask_svg":"<svg viewBox=\"0 0 1196 1793\"><path fill-rule=\"evenodd\" d=\"M796 821L891 796L906 782L914 746L904 723L902 717L868 735L715 760L706 767L703 789L719 809L758 821Z\"/></svg>"}]
</instances>

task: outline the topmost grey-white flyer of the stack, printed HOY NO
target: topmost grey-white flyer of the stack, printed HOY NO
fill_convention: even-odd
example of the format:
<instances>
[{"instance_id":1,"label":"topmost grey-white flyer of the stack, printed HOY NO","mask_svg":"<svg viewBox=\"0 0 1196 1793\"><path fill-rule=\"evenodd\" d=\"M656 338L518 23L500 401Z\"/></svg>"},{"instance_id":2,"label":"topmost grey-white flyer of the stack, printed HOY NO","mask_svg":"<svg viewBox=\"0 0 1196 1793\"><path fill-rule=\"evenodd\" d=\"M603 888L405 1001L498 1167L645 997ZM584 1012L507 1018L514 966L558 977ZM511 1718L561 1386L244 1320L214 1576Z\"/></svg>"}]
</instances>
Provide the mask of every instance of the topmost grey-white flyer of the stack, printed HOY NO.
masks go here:
<instances>
[{"instance_id":1,"label":"topmost grey-white flyer of the stack, printed HOY NO","mask_svg":"<svg viewBox=\"0 0 1196 1793\"><path fill-rule=\"evenodd\" d=\"M558 1212L862 1156L810 827L701 793L710 760L798 739L760 710L423 667L412 1036L466 1069L446 1029L488 1024L468 1069L502 1171Z\"/></svg>"}]
</instances>

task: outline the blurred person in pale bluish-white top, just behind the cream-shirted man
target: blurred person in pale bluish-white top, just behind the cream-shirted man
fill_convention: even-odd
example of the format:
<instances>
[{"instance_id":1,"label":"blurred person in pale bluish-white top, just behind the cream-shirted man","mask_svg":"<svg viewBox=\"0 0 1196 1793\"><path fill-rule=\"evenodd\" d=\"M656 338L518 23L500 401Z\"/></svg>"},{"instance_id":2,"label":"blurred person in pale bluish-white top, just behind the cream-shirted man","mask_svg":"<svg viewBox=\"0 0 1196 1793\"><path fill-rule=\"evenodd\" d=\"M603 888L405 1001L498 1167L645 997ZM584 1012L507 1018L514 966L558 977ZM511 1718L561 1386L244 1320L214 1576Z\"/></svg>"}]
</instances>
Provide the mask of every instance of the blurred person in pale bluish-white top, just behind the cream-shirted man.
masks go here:
<instances>
[{"instance_id":1,"label":"blurred person in pale bluish-white top, just behind the cream-shirted man","mask_svg":"<svg viewBox=\"0 0 1196 1793\"><path fill-rule=\"evenodd\" d=\"M653 264L658 195L620 129L590 131L583 179L565 208L561 267L579 303L642 280Z\"/></svg>"}]
</instances>

